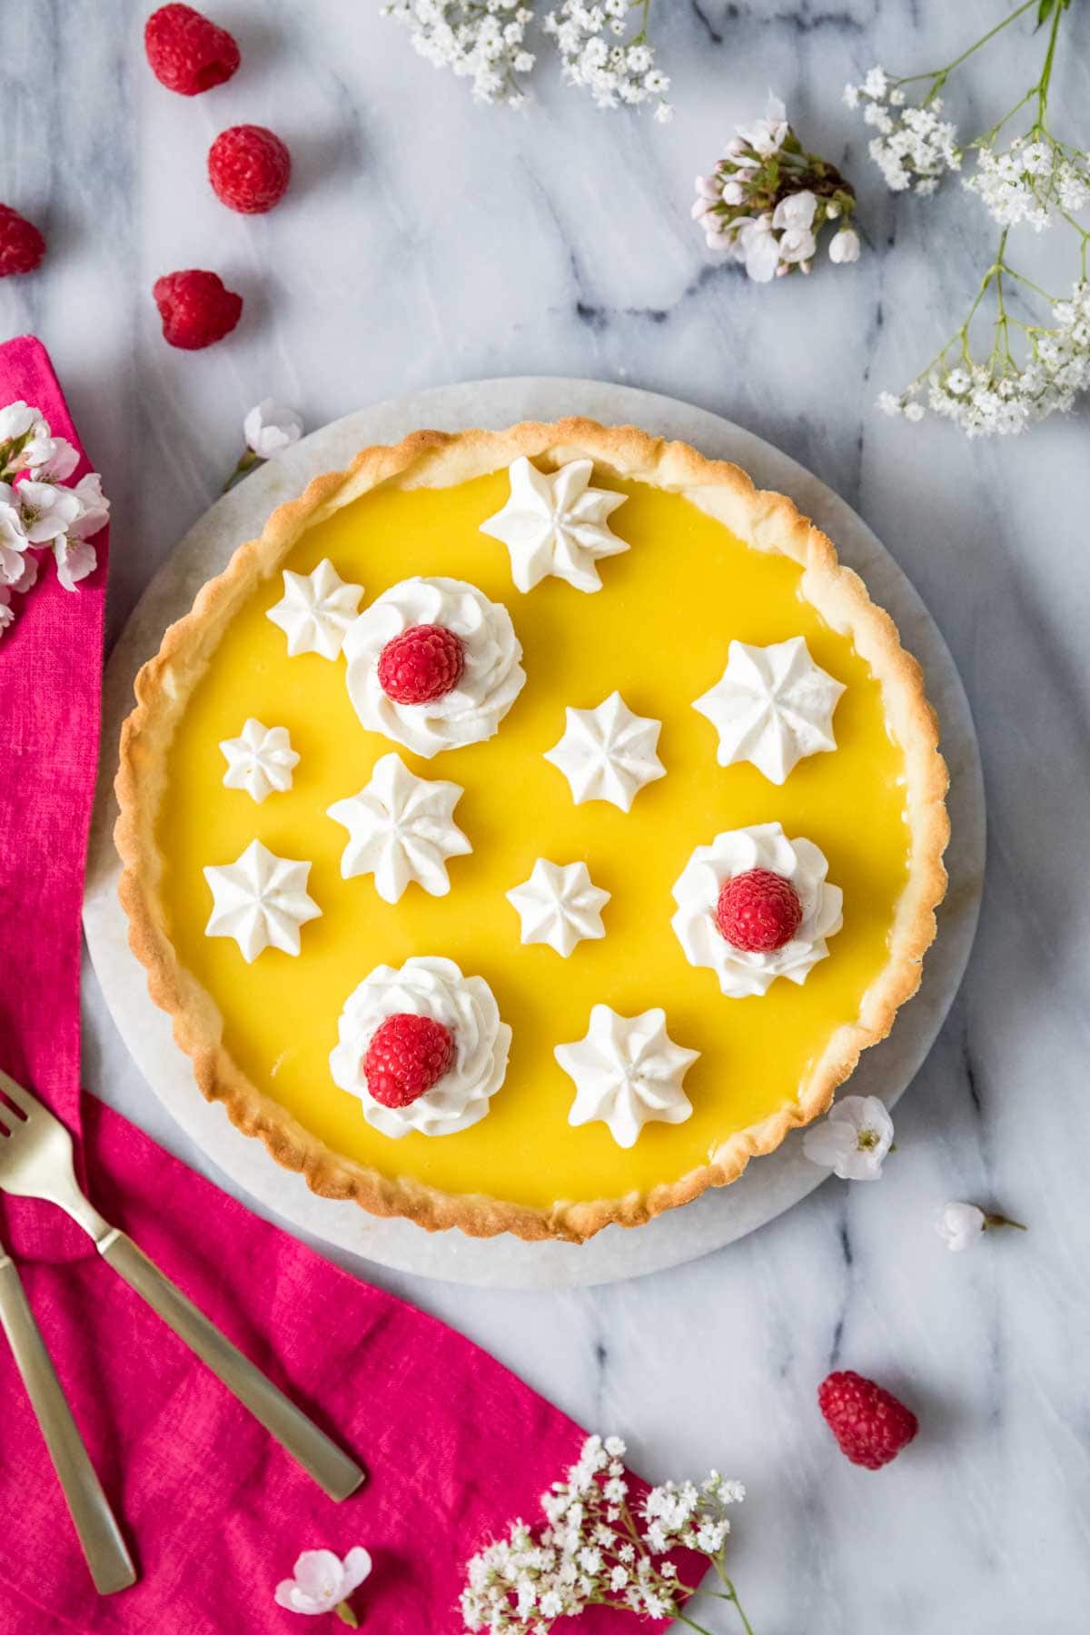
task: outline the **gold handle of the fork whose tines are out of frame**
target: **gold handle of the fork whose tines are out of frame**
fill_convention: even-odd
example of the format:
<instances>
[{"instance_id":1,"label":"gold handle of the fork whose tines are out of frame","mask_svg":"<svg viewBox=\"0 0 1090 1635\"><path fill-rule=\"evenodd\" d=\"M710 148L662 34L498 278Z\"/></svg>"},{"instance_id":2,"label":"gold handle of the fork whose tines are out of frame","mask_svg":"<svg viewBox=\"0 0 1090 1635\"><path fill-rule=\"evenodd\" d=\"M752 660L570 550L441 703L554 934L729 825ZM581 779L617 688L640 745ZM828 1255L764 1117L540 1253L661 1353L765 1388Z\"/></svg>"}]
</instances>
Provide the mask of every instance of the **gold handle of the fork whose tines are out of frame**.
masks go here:
<instances>
[{"instance_id":1,"label":"gold handle of the fork whose tines are out of frame","mask_svg":"<svg viewBox=\"0 0 1090 1635\"><path fill-rule=\"evenodd\" d=\"M15 1262L0 1252L0 1326L8 1337L60 1491L100 1596L127 1589L136 1568L56 1375Z\"/></svg>"}]
</instances>

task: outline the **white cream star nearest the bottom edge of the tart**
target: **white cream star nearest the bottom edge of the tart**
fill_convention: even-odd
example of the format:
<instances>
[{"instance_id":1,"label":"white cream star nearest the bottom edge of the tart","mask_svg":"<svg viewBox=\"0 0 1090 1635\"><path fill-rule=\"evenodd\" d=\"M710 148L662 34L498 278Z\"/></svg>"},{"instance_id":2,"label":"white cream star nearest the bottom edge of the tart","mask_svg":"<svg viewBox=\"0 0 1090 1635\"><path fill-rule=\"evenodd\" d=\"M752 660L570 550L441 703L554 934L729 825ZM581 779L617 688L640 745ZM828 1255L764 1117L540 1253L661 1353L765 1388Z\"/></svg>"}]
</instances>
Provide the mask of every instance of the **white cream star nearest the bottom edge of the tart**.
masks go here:
<instances>
[{"instance_id":1,"label":"white cream star nearest the bottom edge of the tart","mask_svg":"<svg viewBox=\"0 0 1090 1635\"><path fill-rule=\"evenodd\" d=\"M601 1120L618 1146L634 1146L650 1120L685 1123L693 1113L681 1081L699 1051L673 1043L665 1010L623 1017L595 1006L587 1037L557 1045L554 1055L575 1081L567 1122Z\"/></svg>"}]
</instances>

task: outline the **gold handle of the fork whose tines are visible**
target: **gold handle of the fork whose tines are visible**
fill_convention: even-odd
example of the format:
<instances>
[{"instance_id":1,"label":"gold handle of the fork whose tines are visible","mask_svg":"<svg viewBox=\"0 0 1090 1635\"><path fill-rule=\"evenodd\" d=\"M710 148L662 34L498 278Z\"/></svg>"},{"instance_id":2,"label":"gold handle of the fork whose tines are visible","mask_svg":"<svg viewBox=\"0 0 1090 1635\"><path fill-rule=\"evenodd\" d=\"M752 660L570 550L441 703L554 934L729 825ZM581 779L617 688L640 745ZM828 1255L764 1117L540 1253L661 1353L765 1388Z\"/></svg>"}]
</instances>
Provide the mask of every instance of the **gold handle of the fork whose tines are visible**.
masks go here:
<instances>
[{"instance_id":1,"label":"gold handle of the fork whose tines are visible","mask_svg":"<svg viewBox=\"0 0 1090 1635\"><path fill-rule=\"evenodd\" d=\"M265 1426L271 1437L296 1458L328 1493L330 1499L346 1499L364 1480L355 1460L319 1431L307 1416L266 1380L248 1357L221 1334L214 1323L159 1270L142 1249L113 1228L98 1243L98 1252L113 1265L129 1288L160 1315L163 1323L208 1364L243 1408Z\"/></svg>"}]
</instances>

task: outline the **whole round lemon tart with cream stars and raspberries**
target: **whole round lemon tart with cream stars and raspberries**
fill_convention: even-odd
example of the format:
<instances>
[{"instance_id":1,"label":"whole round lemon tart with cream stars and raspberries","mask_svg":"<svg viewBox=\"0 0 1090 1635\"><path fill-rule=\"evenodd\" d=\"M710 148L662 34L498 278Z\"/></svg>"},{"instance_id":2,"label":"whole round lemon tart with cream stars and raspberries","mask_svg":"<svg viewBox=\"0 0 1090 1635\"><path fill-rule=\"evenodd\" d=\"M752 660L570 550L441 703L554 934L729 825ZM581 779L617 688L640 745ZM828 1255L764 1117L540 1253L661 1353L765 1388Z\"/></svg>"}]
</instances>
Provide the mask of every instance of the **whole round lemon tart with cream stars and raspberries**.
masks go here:
<instances>
[{"instance_id":1,"label":"whole round lemon tart with cream stars and raspberries","mask_svg":"<svg viewBox=\"0 0 1090 1635\"><path fill-rule=\"evenodd\" d=\"M918 986L920 669L788 499L685 445L363 450L136 698L131 945L201 1092L325 1197L637 1226L824 1112Z\"/></svg>"}]
</instances>

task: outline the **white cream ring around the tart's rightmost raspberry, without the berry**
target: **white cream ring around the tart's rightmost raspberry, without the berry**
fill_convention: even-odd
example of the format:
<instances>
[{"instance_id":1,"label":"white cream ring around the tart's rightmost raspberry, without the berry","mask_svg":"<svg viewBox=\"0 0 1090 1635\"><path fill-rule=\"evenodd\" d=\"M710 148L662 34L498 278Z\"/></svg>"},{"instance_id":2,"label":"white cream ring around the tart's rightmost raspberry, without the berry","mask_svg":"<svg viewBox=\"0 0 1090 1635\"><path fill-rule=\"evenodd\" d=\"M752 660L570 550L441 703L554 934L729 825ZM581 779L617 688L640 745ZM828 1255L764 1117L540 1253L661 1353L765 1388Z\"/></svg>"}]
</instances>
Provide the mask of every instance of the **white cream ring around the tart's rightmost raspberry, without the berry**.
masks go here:
<instances>
[{"instance_id":1,"label":"white cream ring around the tart's rightmost raspberry, without the berry","mask_svg":"<svg viewBox=\"0 0 1090 1635\"><path fill-rule=\"evenodd\" d=\"M789 880L802 904L802 921L791 942L770 953L732 947L716 924L719 891L750 868L768 868ZM804 983L829 953L825 937L843 924L843 893L825 881L829 862L812 840L788 840L778 822L727 829L711 845L698 845L673 888L678 909L670 924L690 965L708 965L730 999L765 994L778 976Z\"/></svg>"}]
</instances>

